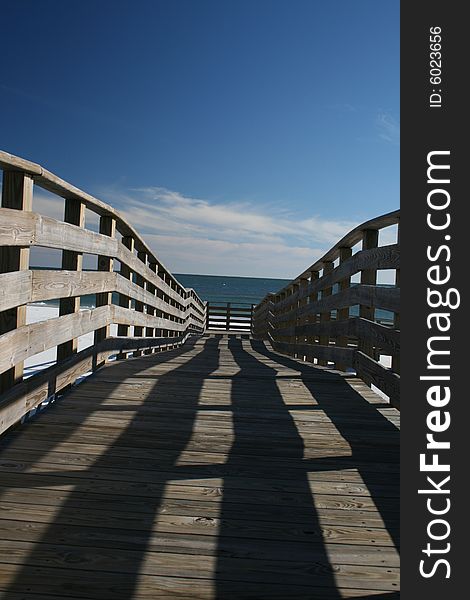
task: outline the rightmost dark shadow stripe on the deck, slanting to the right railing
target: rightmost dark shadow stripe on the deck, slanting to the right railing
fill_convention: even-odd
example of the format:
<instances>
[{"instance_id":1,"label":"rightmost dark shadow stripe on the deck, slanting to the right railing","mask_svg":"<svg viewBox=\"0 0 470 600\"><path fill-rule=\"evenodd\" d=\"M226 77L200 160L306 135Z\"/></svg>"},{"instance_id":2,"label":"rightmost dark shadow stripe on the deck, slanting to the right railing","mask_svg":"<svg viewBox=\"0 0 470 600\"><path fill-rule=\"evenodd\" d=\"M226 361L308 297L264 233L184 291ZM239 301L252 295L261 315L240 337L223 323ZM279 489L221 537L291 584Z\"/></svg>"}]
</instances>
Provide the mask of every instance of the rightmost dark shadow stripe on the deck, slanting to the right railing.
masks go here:
<instances>
[{"instance_id":1,"label":"rightmost dark shadow stripe on the deck, slanting to the right railing","mask_svg":"<svg viewBox=\"0 0 470 600\"><path fill-rule=\"evenodd\" d=\"M351 456L344 460L344 468L357 468L364 484L368 488L370 495L382 517L384 525L392 539L395 548L399 550L399 527L397 518L399 513L399 464L400 464L400 432L399 429L384 417L373 404L370 404L359 393L357 393L347 379L344 379L334 373L330 377L336 380L335 398L331 393L321 385L312 381L311 375L315 372L315 367L308 363L302 364L300 361L292 360L282 354L272 352L264 342L252 340L253 349L259 354L281 364L285 367L295 369L301 373L304 386L307 388L312 398L318 403L320 409L331 419L339 434L350 445ZM325 377L328 372L322 370ZM348 415L354 414L354 423L345 418L345 412ZM380 434L374 441L368 436ZM381 463L389 466L395 466L395 471L387 470L387 486L393 489L396 499L396 506L391 506L390 498L386 497L380 484L384 481L384 474L375 469L371 469L368 461L377 467ZM335 459L333 459L334 461ZM341 465L337 461L338 468Z\"/></svg>"}]
</instances>

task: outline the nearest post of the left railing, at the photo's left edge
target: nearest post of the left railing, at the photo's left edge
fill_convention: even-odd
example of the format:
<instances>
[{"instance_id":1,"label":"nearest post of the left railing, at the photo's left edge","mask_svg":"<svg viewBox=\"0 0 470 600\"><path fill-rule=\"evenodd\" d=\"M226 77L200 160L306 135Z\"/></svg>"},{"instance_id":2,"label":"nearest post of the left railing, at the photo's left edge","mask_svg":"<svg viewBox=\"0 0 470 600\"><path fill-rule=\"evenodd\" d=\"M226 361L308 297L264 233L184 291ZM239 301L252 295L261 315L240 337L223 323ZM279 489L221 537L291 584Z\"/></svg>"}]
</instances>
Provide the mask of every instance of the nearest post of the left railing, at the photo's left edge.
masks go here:
<instances>
[{"instance_id":1,"label":"nearest post of the left railing, at the photo's left edge","mask_svg":"<svg viewBox=\"0 0 470 600\"><path fill-rule=\"evenodd\" d=\"M31 211L33 208L33 179L26 173L4 171L2 207ZM26 271L29 268L29 247L1 247L0 273ZM26 324L26 306L0 313L0 335ZM24 364L19 363L0 375L0 393L23 379Z\"/></svg>"}]
</instances>

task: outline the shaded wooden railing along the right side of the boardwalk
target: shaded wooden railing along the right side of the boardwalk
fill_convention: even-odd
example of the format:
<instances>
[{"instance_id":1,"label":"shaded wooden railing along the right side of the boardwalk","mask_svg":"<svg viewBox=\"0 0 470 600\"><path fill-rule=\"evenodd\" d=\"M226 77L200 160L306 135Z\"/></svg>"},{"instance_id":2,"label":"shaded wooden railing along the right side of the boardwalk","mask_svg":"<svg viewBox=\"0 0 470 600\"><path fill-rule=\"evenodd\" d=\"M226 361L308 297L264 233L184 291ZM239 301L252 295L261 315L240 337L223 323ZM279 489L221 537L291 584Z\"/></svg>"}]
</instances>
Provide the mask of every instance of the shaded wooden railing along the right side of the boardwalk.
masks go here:
<instances>
[{"instance_id":1,"label":"shaded wooden railing along the right side of the boardwalk","mask_svg":"<svg viewBox=\"0 0 470 600\"><path fill-rule=\"evenodd\" d=\"M395 211L360 225L320 260L255 307L254 337L275 350L337 369L353 369L399 408L400 247L379 246L379 231L399 225ZM359 251L353 249L361 244ZM392 285L378 285L380 270L393 270ZM359 274L360 281L351 279ZM389 278L390 279L390 278ZM377 311L389 311L386 319ZM379 362L389 357L390 366Z\"/></svg>"}]
</instances>

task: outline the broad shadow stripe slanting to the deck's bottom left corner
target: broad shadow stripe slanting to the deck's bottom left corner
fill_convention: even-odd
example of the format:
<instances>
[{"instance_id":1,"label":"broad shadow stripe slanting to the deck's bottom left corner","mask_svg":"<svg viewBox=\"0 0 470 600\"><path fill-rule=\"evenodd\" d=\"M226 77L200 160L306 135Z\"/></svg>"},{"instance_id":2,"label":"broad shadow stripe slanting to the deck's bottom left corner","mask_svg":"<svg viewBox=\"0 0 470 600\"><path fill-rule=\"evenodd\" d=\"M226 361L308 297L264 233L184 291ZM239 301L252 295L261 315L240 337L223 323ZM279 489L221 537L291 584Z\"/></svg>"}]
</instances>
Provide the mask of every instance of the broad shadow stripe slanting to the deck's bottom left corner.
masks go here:
<instances>
[{"instance_id":1,"label":"broad shadow stripe slanting to the deck's bottom left corner","mask_svg":"<svg viewBox=\"0 0 470 600\"><path fill-rule=\"evenodd\" d=\"M38 594L51 593L61 598L88 598L90 594L106 599L135 597L142 574L155 568L145 568L149 548L162 550L155 539L156 516L165 486L180 468L176 463L193 434L203 382L219 366L218 343L209 338L200 352L160 375L147 398L136 408L129 424L81 475L73 478L74 472L62 473L64 481L71 476L66 484L70 487L73 482L74 487L64 494L62 506L57 508L51 522L32 545L27 558L22 561L24 566L1 596L3 600L16 600L18 592L31 591L32 577L32 591ZM169 354L184 356L191 351L191 346L188 344L182 351ZM144 370L151 363L143 358L134 364L141 364L141 370ZM120 364L116 364L109 367L108 373L112 375L112 369L119 373L120 368ZM136 367L129 376L138 377L138 373ZM185 375L190 375L190 385L185 387L183 400L180 400L186 411L185 418L180 420L177 428L171 429L169 439L168 419L160 418L165 413L165 405L162 413L157 411L152 417L148 416L148 409L158 407L161 398L165 402L168 387L174 386L177 378L183 376L184 379ZM178 384L185 385L181 380ZM110 384L109 391L112 389ZM94 408L97 409L99 405ZM145 434L141 422L149 418L152 426ZM38 451L37 460L56 443L46 443L46 447ZM97 443L105 444L99 439ZM123 457L123 465L121 475L116 475L114 468L119 465L119 456ZM138 475L142 469L145 469L145 475ZM45 472L41 476L42 482L38 481L37 485L39 488L58 485L60 475L60 472ZM34 532L33 525L29 528L31 532ZM161 544L164 546L165 540ZM157 553L153 554L158 557Z\"/></svg>"}]
</instances>

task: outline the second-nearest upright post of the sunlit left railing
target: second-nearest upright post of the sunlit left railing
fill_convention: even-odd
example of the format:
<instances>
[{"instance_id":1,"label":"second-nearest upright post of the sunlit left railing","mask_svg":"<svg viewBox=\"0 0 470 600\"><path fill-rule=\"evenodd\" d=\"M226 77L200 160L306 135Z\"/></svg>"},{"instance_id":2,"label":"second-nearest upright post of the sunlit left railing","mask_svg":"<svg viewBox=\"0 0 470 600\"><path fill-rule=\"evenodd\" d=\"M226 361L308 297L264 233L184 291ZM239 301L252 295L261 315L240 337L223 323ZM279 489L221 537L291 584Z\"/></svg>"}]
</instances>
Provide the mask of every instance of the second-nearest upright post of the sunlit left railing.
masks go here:
<instances>
[{"instance_id":1,"label":"second-nearest upright post of the sunlit left railing","mask_svg":"<svg viewBox=\"0 0 470 600\"><path fill-rule=\"evenodd\" d=\"M85 226L85 204L75 198L65 199L64 221L77 227ZM73 250L62 250L62 269L81 271L83 254ZM59 316L70 315L80 311L80 296L61 298L59 300ZM77 352L78 339L73 338L57 346L57 361L64 360Z\"/></svg>"}]
</instances>

